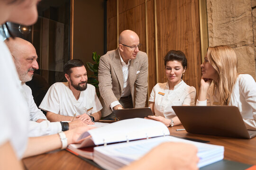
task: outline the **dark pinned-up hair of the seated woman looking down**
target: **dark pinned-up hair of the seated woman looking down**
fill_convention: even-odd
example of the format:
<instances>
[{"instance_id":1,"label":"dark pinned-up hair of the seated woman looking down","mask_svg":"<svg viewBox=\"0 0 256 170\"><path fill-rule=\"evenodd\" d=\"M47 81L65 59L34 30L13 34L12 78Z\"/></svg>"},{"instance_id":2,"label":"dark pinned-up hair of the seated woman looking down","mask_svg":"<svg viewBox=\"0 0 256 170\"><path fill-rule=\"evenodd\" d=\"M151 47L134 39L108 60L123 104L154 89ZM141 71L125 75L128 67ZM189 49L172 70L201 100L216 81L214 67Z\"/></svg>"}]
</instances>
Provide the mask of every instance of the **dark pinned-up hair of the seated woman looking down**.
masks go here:
<instances>
[{"instance_id":1,"label":"dark pinned-up hair of the seated woman looking down","mask_svg":"<svg viewBox=\"0 0 256 170\"><path fill-rule=\"evenodd\" d=\"M171 50L165 55L165 67L168 61L180 61L183 68L187 68L187 58L182 51Z\"/></svg>"}]
</instances>

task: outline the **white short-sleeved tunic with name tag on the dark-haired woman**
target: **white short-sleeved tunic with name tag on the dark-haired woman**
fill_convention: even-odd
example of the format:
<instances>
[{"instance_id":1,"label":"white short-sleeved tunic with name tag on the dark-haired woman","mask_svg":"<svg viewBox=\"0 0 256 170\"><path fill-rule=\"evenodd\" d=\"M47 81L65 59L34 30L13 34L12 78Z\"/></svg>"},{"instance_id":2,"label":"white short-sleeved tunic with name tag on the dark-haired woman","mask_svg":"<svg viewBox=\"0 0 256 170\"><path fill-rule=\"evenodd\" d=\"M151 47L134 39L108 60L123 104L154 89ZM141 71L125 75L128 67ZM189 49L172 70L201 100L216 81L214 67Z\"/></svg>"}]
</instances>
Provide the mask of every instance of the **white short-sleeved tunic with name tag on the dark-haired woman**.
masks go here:
<instances>
[{"instance_id":1,"label":"white short-sleeved tunic with name tag on the dark-haired woman","mask_svg":"<svg viewBox=\"0 0 256 170\"><path fill-rule=\"evenodd\" d=\"M157 83L153 88L148 101L155 102L156 116L172 119L176 116L172 106L194 105L196 89L187 85L183 80L169 90L169 84Z\"/></svg>"}]
</instances>

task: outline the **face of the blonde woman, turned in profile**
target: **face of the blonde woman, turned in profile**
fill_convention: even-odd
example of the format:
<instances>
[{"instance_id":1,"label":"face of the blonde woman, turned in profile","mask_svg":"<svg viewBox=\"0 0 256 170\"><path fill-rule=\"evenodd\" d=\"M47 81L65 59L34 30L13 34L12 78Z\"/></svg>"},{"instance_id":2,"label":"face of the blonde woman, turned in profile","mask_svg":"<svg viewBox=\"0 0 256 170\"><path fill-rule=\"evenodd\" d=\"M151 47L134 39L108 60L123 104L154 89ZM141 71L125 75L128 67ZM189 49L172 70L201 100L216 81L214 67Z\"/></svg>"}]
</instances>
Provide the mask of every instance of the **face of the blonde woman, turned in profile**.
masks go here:
<instances>
[{"instance_id":1,"label":"face of the blonde woman, turned in profile","mask_svg":"<svg viewBox=\"0 0 256 170\"><path fill-rule=\"evenodd\" d=\"M203 78L213 79L213 80L217 81L218 77L219 77L219 74L212 67L212 65L210 64L208 58L209 58L209 53L206 54L206 56L204 58L204 62L201 64L202 77Z\"/></svg>"}]
</instances>

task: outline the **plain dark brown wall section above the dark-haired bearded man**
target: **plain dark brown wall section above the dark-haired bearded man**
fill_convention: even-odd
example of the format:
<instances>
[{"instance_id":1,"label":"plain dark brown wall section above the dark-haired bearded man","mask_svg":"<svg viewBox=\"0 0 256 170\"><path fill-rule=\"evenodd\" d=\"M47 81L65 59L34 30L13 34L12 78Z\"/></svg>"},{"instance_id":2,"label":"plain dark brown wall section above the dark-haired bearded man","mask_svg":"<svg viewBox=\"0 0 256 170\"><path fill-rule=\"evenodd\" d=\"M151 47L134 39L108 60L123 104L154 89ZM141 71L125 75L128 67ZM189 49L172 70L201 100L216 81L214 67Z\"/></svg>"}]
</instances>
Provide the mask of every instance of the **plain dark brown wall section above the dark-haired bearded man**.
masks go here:
<instances>
[{"instance_id":1,"label":"plain dark brown wall section above the dark-haired bearded man","mask_svg":"<svg viewBox=\"0 0 256 170\"><path fill-rule=\"evenodd\" d=\"M73 15L73 59L92 62L92 52L104 54L104 0L74 0Z\"/></svg>"}]
</instances>

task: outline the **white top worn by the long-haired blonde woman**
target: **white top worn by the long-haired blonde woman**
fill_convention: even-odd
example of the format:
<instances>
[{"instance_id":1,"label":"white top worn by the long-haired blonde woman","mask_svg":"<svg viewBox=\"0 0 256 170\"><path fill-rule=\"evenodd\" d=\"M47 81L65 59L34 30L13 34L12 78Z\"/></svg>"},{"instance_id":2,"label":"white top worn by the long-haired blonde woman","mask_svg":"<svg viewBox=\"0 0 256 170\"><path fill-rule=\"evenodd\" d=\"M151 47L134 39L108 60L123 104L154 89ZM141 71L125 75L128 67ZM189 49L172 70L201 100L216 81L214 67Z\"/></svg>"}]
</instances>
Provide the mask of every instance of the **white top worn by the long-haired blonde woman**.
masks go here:
<instances>
[{"instance_id":1,"label":"white top worn by the long-haired blonde woman","mask_svg":"<svg viewBox=\"0 0 256 170\"><path fill-rule=\"evenodd\" d=\"M216 91L215 91L216 92ZM197 101L197 106L214 105L219 102L219 95L213 93L213 85L210 85L207 93L207 100ZM238 107L247 129L256 130L256 82L248 74L240 74L233 87L230 106Z\"/></svg>"}]
</instances>

